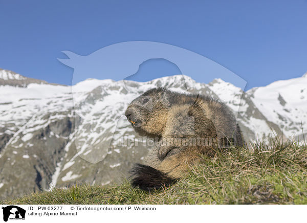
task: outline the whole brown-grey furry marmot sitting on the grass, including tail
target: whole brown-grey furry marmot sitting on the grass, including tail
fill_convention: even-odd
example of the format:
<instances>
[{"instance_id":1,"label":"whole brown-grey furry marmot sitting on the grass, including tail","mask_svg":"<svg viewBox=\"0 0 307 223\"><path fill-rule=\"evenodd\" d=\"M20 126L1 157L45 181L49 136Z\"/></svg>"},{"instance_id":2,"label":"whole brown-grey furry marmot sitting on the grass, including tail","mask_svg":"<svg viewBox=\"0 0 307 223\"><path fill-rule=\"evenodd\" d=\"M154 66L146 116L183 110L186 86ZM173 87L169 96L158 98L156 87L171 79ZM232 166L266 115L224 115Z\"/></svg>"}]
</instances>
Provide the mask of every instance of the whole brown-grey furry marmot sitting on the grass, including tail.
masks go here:
<instances>
[{"instance_id":1,"label":"whole brown-grey furry marmot sitting on the grass, including tail","mask_svg":"<svg viewBox=\"0 0 307 223\"><path fill-rule=\"evenodd\" d=\"M207 96L153 88L134 99L125 116L141 136L159 139L144 165L136 164L130 170L131 185L143 190L169 186L216 144L244 145L230 108Z\"/></svg>"}]
</instances>

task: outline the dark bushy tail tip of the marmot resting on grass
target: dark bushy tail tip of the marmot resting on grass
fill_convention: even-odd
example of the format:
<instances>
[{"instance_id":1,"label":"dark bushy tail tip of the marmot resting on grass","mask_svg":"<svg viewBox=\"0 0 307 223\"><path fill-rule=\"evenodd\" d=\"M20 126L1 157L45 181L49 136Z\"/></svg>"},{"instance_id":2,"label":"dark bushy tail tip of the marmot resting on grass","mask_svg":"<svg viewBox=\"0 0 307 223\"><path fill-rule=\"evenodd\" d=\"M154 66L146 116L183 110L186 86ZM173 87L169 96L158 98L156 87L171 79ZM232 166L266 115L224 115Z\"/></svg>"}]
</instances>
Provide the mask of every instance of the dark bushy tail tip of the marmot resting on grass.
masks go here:
<instances>
[{"instance_id":1,"label":"dark bushy tail tip of the marmot resting on grass","mask_svg":"<svg viewBox=\"0 0 307 223\"><path fill-rule=\"evenodd\" d=\"M135 164L129 172L131 174L131 185L145 191L159 189L162 186L168 187L176 181L160 170L139 163Z\"/></svg>"}]
</instances>

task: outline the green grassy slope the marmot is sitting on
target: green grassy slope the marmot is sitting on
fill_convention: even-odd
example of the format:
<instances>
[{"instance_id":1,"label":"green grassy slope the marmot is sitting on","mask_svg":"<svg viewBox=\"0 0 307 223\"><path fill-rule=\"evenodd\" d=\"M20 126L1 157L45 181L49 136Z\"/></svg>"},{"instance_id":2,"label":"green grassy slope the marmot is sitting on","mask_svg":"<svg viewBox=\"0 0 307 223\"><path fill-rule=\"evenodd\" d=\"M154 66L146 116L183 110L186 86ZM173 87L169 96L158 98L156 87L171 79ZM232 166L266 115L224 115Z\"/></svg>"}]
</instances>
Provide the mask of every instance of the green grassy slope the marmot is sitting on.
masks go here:
<instances>
[{"instance_id":1,"label":"green grassy slope the marmot is sitting on","mask_svg":"<svg viewBox=\"0 0 307 223\"><path fill-rule=\"evenodd\" d=\"M147 193L128 181L113 186L74 185L4 204L307 204L307 147L295 142L229 148L204 157L185 179Z\"/></svg>"}]
</instances>

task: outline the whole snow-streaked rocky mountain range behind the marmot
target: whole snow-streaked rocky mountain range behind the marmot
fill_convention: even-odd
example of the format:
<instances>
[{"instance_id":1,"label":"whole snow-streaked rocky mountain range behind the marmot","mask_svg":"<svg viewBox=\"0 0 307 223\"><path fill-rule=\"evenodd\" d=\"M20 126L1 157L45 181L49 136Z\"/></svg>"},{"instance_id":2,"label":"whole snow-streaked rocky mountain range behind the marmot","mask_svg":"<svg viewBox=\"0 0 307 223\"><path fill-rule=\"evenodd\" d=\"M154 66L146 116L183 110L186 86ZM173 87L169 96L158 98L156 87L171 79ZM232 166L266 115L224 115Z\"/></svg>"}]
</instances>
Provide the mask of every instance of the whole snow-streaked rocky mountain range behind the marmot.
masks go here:
<instances>
[{"instance_id":1,"label":"whole snow-streaked rocky mountain range behind the marmot","mask_svg":"<svg viewBox=\"0 0 307 223\"><path fill-rule=\"evenodd\" d=\"M184 75L63 86L0 70L0 199L75 182L105 185L126 176L148 148L118 144L138 138L124 110L157 86L221 99L248 140L266 140L272 130L301 140L302 127L307 129L306 74L245 93L221 79L205 84Z\"/></svg>"}]
</instances>

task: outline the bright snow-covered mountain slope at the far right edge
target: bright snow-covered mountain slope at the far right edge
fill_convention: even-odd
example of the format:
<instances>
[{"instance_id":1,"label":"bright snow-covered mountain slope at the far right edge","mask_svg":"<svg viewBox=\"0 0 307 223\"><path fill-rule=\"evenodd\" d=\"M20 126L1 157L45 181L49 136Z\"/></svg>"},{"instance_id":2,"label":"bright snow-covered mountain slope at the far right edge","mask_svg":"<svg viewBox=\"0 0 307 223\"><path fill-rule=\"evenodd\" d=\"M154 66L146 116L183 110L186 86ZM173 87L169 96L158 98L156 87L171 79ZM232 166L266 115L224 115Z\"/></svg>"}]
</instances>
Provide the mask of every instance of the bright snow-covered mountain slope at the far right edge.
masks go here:
<instances>
[{"instance_id":1,"label":"bright snow-covered mountain slope at the far right edge","mask_svg":"<svg viewBox=\"0 0 307 223\"><path fill-rule=\"evenodd\" d=\"M247 91L256 107L287 137L302 139L307 131L307 73Z\"/></svg>"}]
</instances>

